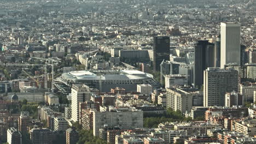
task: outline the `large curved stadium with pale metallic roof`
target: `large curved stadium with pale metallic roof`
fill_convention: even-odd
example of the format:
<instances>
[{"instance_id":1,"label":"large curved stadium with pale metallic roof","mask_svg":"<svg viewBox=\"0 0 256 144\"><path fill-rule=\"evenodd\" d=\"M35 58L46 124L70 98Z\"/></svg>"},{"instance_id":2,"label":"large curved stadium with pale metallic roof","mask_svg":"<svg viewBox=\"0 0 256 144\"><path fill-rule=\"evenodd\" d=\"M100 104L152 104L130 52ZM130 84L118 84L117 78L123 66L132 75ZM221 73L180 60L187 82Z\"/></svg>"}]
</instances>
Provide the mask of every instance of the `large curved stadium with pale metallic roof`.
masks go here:
<instances>
[{"instance_id":1,"label":"large curved stadium with pale metallic roof","mask_svg":"<svg viewBox=\"0 0 256 144\"><path fill-rule=\"evenodd\" d=\"M128 92L137 91L137 84L150 84L155 88L160 84L151 74L138 70L81 70L64 73L54 80L54 85L63 93L71 91L73 83L84 83L90 88L97 88L101 92L109 92L110 88L122 87ZM101 83L101 89L100 89Z\"/></svg>"}]
</instances>

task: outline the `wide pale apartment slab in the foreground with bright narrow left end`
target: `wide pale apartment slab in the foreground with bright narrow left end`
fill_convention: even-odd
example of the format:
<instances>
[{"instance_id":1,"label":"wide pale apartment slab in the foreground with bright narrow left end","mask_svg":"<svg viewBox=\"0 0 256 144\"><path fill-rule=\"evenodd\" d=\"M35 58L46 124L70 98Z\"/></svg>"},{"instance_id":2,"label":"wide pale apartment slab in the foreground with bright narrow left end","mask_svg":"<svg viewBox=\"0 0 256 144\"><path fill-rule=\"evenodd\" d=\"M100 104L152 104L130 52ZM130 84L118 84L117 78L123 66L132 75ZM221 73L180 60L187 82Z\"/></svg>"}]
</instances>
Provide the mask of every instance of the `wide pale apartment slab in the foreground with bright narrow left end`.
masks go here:
<instances>
[{"instance_id":1,"label":"wide pale apartment slab in the foreground with bright narrow left end","mask_svg":"<svg viewBox=\"0 0 256 144\"><path fill-rule=\"evenodd\" d=\"M135 107L101 107L101 111L93 112L94 136L104 125L121 129L143 128L143 111Z\"/></svg>"}]
</instances>

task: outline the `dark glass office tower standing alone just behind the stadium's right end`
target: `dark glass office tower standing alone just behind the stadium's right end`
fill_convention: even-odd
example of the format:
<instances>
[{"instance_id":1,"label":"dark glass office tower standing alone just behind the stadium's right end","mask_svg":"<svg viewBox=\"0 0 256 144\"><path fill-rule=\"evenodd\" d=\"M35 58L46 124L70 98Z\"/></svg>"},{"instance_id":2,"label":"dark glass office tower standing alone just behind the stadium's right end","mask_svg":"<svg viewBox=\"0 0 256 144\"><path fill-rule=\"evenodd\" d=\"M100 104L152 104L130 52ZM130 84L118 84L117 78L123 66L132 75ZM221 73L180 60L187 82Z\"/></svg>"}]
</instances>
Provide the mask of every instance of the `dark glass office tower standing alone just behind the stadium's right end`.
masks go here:
<instances>
[{"instance_id":1,"label":"dark glass office tower standing alone just behind the stadium's right end","mask_svg":"<svg viewBox=\"0 0 256 144\"><path fill-rule=\"evenodd\" d=\"M170 37L154 37L154 70L160 70L160 64L165 59L170 61Z\"/></svg>"}]
</instances>

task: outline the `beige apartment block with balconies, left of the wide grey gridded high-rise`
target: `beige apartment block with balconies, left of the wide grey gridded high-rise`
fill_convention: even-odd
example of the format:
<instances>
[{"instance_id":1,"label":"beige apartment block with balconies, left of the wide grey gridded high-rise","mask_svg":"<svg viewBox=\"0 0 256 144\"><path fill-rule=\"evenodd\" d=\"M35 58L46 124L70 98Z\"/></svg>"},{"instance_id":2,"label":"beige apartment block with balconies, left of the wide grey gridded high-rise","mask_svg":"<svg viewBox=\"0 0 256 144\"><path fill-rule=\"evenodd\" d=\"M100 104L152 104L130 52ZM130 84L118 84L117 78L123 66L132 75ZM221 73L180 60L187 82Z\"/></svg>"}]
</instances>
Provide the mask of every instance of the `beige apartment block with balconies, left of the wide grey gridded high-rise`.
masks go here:
<instances>
[{"instance_id":1,"label":"beige apartment block with balconies, left of the wide grey gridded high-rise","mask_svg":"<svg viewBox=\"0 0 256 144\"><path fill-rule=\"evenodd\" d=\"M185 113L192 109L193 93L188 93L179 88L166 88L166 107L174 111Z\"/></svg>"}]
</instances>

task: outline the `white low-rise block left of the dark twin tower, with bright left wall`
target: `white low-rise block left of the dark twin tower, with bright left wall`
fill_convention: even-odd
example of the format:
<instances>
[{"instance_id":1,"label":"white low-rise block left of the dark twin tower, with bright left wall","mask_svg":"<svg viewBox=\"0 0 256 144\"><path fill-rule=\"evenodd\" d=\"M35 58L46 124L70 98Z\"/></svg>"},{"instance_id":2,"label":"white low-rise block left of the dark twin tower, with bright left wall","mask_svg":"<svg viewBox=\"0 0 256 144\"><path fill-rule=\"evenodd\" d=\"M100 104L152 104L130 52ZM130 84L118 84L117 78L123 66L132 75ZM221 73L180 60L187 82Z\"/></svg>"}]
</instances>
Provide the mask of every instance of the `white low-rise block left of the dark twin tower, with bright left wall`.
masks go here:
<instances>
[{"instance_id":1,"label":"white low-rise block left of the dark twin tower, with bright left wall","mask_svg":"<svg viewBox=\"0 0 256 144\"><path fill-rule=\"evenodd\" d=\"M173 86L184 86L188 85L187 75L166 75L165 76L165 88L170 88Z\"/></svg>"}]
</instances>

